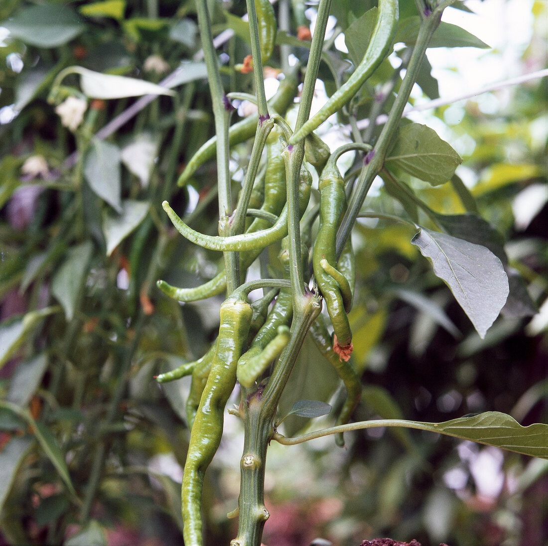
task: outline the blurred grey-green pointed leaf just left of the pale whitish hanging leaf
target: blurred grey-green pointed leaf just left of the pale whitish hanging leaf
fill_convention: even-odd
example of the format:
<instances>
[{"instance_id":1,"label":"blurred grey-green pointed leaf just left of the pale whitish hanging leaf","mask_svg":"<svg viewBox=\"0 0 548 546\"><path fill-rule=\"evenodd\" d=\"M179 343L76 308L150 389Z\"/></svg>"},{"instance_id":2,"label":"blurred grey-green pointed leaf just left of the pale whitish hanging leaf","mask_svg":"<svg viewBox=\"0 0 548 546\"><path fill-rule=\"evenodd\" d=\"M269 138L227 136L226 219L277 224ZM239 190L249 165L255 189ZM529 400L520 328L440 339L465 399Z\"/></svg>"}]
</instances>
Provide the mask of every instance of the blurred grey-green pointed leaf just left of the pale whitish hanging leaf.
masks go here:
<instances>
[{"instance_id":1,"label":"blurred grey-green pointed leaf just left of the pale whitish hanging leaf","mask_svg":"<svg viewBox=\"0 0 548 546\"><path fill-rule=\"evenodd\" d=\"M122 212L120 156L116 144L93 139L84 159L84 176L89 187L118 212Z\"/></svg>"}]
</instances>

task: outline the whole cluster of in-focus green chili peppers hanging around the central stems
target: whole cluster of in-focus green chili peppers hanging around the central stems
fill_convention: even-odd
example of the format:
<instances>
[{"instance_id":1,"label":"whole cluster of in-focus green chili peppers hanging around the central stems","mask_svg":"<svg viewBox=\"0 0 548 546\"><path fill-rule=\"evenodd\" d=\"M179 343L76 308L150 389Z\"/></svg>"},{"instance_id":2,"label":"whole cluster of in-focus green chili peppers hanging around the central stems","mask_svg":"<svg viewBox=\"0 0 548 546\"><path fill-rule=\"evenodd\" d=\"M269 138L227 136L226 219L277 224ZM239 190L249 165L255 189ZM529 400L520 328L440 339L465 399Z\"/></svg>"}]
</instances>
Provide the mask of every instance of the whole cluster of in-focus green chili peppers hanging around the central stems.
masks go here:
<instances>
[{"instance_id":1,"label":"whole cluster of in-focus green chili peppers hanging around the central stems","mask_svg":"<svg viewBox=\"0 0 548 546\"><path fill-rule=\"evenodd\" d=\"M303 162L298 180L298 208L300 216L302 269L313 272L312 291L326 302L333 327L329 334L326 317L318 315L309 333L318 349L332 363L347 391L346 401L337 424L347 423L361 396L361 383L349 363L352 352L352 333L347 313L352 306L355 283L355 262L350 237L338 255L336 235L341 218L346 211L345 181L336 167L340 155L351 149L367 152L370 146L351 144L334 153L319 137L312 133L319 124L339 110L356 94L359 87L385 58L392 43L397 22L397 0L380 0L373 35L362 63L350 79L336 92L326 105L293 134L284 120L288 107L297 94L296 78L287 74L281 81L277 94L269 102L269 120L257 115L234 124L229 130L229 145L242 143L255 135L261 123L270 123L266 147L264 178L256 177L253 195L262 195L260 208L249 208L246 214L247 229L236 235L208 236L192 230L173 211L167 202L163 208L176 229L193 243L215 251L238 252L242 276L259 254L271 244L281 241L279 264L284 271L282 279L264 280L261 287L270 287L264 297L249 302L248 293L257 285L247 283L229 294L220 308L219 335L204 356L195 362L185 363L173 371L157 377L159 383L184 376L192 376L186 413L191 427L189 450L182 479L182 512L184 538L187 546L202 544L201 498L204 473L213 459L222 435L225 405L236 382L253 389L261 384L267 371L275 366L278 357L292 339L294 299L289 281L292 260L288 238L288 203L290 151L293 145L305 140L306 158L317 171L319 203L309 207L312 175ZM295 15L304 18L302 2L293 2ZM275 36L275 21L270 3L255 0L258 18L262 61L269 58ZM304 24L304 21L301 21ZM273 123L272 123L273 122ZM257 131L257 133L259 133ZM193 173L215 154L216 138L210 139L192 157L182 172L179 184L186 183ZM257 153L261 153L262 149ZM260 157L260 156L259 156ZM238 211L237 211L238 212ZM239 211L242 214L241 211ZM230 221L230 219L229 219ZM317 227L316 227L317 225ZM312 232L315 236L312 237ZM313 242L312 242L313 241ZM310 264L309 264L310 260ZM164 281L158 287L180 302L192 302L219 295L226 291L227 277L221 271L216 277L196 288L176 288ZM304 339L304 338L303 338ZM336 437L344 445L342 435Z\"/></svg>"}]
</instances>

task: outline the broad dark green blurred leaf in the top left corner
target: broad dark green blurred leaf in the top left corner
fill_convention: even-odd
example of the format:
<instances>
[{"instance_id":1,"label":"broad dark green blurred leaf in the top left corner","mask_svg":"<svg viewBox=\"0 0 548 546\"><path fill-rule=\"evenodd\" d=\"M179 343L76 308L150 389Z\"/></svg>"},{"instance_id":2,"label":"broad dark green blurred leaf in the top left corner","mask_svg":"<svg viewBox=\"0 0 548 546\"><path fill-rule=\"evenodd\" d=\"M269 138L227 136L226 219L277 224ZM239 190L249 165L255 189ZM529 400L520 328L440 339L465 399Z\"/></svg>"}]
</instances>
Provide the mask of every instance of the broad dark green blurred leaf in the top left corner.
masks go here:
<instances>
[{"instance_id":1,"label":"broad dark green blurred leaf in the top left corner","mask_svg":"<svg viewBox=\"0 0 548 546\"><path fill-rule=\"evenodd\" d=\"M14 38L38 47L58 47L84 32L86 25L68 5L45 3L22 9L3 21Z\"/></svg>"}]
</instances>

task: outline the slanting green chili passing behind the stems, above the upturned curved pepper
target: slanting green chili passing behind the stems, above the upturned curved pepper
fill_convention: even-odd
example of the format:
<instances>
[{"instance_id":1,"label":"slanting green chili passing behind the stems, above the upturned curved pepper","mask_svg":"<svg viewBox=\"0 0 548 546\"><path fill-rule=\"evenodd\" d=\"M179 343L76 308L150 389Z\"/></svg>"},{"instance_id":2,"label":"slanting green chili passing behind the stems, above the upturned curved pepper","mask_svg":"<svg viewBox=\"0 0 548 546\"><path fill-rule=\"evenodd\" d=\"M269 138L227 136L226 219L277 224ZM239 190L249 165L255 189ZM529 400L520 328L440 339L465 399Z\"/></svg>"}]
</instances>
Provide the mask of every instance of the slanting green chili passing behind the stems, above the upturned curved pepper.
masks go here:
<instances>
[{"instance_id":1,"label":"slanting green chili passing behind the stems, above the upturned curved pepper","mask_svg":"<svg viewBox=\"0 0 548 546\"><path fill-rule=\"evenodd\" d=\"M293 74L287 74L279 84L276 94L269 101L269 109L284 116L290 105L293 104L293 98L297 92L298 81ZM255 134L257 129L258 114L248 116L242 121L233 124L229 129L229 145L240 144ZM196 172L198 167L206 161L213 159L216 153L217 137L213 136L192 156L181 173L177 184L183 186L189 178Z\"/></svg>"}]
</instances>

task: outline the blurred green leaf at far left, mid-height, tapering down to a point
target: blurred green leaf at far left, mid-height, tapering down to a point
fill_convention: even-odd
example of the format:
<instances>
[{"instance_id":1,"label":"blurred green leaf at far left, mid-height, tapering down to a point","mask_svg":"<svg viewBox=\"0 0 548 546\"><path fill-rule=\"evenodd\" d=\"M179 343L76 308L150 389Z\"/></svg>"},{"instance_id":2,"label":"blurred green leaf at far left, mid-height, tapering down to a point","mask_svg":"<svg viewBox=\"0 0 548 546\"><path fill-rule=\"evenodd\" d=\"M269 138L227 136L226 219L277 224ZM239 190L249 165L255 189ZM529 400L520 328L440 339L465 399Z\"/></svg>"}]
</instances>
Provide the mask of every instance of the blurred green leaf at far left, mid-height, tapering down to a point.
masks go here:
<instances>
[{"instance_id":1,"label":"blurred green leaf at far left, mid-height, tapering down to a point","mask_svg":"<svg viewBox=\"0 0 548 546\"><path fill-rule=\"evenodd\" d=\"M67 259L52 278L52 294L63 306L67 321L71 321L74 316L75 305L82 290L84 275L87 273L92 253L93 244L90 241L69 249Z\"/></svg>"}]
</instances>

